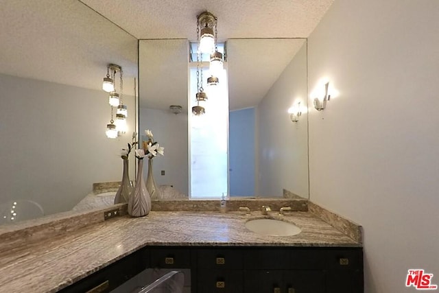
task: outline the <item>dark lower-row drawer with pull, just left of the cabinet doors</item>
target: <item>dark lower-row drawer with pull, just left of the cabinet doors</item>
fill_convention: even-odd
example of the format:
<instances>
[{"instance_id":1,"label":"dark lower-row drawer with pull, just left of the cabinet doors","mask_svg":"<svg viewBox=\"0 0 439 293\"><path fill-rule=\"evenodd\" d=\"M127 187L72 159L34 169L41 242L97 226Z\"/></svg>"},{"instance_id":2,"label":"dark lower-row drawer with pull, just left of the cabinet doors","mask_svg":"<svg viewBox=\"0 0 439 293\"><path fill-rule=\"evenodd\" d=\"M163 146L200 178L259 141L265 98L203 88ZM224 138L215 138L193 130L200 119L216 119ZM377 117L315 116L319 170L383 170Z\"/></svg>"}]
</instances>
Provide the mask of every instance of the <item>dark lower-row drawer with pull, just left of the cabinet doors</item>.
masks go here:
<instances>
[{"instance_id":1,"label":"dark lower-row drawer with pull, just left of the cabinet doors","mask_svg":"<svg viewBox=\"0 0 439 293\"><path fill-rule=\"evenodd\" d=\"M242 270L199 270L198 292L244 292L243 272Z\"/></svg>"}]
</instances>

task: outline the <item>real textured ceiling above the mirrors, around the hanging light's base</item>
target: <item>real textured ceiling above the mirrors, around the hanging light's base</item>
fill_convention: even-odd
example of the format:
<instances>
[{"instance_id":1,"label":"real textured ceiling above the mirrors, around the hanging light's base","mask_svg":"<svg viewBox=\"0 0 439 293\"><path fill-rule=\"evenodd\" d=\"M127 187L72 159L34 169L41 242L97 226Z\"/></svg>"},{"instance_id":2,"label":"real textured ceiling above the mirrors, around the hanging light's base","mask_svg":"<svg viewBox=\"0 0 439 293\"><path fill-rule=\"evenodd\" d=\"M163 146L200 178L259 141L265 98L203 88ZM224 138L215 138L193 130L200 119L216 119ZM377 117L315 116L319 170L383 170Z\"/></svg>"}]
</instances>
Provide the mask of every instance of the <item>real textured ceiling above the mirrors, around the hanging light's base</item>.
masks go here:
<instances>
[{"instance_id":1,"label":"real textured ceiling above the mirrors, around the hanging light's base","mask_svg":"<svg viewBox=\"0 0 439 293\"><path fill-rule=\"evenodd\" d=\"M307 38L333 0L81 0L136 38L196 40L196 16L212 12L218 38Z\"/></svg>"}]
</instances>

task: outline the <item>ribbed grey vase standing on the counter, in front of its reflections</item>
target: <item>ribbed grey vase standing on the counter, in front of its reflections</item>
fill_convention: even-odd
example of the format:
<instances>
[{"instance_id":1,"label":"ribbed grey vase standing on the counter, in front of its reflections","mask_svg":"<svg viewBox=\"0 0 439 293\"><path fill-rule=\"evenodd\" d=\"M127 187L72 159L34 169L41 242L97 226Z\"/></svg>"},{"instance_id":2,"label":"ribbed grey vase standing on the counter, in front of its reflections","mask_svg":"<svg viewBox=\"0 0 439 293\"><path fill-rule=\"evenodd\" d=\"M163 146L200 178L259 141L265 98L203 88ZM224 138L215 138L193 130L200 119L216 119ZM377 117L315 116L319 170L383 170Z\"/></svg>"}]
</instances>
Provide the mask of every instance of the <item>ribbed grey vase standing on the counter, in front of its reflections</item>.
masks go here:
<instances>
[{"instance_id":1,"label":"ribbed grey vase standing on the counter, in front of its reflections","mask_svg":"<svg viewBox=\"0 0 439 293\"><path fill-rule=\"evenodd\" d=\"M150 213L151 197L143 180L143 159L139 159L136 184L128 199L128 214L132 217L143 217Z\"/></svg>"}]
</instances>

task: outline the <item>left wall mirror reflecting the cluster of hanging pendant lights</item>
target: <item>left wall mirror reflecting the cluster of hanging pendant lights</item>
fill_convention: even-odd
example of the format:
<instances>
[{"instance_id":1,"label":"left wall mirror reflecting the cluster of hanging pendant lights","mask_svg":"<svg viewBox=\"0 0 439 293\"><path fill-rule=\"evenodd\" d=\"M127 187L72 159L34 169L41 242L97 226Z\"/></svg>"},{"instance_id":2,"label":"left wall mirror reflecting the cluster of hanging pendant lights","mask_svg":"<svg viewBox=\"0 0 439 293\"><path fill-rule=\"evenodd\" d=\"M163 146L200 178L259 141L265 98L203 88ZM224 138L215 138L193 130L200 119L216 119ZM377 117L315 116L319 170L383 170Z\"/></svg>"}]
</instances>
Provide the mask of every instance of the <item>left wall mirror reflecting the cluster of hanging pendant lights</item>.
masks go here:
<instances>
[{"instance_id":1,"label":"left wall mirror reflecting the cluster of hanging pendant lights","mask_svg":"<svg viewBox=\"0 0 439 293\"><path fill-rule=\"evenodd\" d=\"M131 134L106 138L102 78L108 62L123 68L132 132L137 39L80 1L1 5L0 224L10 224L70 211L93 183L121 180Z\"/></svg>"}]
</instances>

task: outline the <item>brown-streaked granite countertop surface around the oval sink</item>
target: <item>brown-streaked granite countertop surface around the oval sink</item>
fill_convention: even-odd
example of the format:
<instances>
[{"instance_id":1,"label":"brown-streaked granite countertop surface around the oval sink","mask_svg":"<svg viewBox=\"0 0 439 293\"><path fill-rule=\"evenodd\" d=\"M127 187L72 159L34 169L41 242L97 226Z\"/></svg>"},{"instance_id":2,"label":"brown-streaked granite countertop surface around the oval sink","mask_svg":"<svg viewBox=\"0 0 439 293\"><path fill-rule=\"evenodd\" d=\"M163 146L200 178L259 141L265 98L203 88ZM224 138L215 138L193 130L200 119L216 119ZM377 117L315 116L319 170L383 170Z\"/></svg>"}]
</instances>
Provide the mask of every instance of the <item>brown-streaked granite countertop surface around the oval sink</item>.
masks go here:
<instances>
[{"instance_id":1,"label":"brown-streaked granite countertop surface around the oval sink","mask_svg":"<svg viewBox=\"0 0 439 293\"><path fill-rule=\"evenodd\" d=\"M244 223L276 218L302 229L294 236L264 236ZM144 246L336 246L359 247L344 233L309 212L152 211L128 215L0 254L0 292L56 292Z\"/></svg>"}]
</instances>

